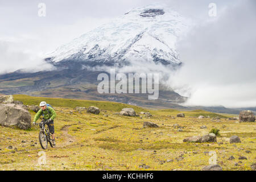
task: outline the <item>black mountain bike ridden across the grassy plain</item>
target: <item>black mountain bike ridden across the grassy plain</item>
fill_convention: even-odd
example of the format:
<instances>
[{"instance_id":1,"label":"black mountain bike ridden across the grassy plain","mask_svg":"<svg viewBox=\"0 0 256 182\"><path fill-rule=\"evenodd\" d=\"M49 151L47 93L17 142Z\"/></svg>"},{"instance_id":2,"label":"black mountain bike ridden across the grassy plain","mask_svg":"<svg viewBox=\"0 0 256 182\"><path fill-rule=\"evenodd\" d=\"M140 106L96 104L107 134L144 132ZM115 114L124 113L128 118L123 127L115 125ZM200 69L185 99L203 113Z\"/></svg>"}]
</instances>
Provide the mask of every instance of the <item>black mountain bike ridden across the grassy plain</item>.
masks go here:
<instances>
[{"instance_id":1,"label":"black mountain bike ridden across the grassy plain","mask_svg":"<svg viewBox=\"0 0 256 182\"><path fill-rule=\"evenodd\" d=\"M41 147L46 150L48 147L48 142L51 145L51 147L55 147L52 142L52 134L49 133L49 128L46 119L43 119L40 123L36 123L36 125L39 125L40 132L39 132L39 142Z\"/></svg>"}]
</instances>

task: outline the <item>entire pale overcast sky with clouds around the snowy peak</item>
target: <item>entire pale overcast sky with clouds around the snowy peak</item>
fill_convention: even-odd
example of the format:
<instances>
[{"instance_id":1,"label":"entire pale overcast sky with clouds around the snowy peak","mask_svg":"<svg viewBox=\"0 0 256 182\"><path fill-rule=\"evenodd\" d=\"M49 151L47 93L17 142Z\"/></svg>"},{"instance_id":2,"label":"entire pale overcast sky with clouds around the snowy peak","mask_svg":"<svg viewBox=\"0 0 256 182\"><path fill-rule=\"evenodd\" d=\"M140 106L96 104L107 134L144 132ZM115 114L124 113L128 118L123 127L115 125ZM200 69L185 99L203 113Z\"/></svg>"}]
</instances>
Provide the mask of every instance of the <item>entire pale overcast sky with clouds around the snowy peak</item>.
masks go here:
<instances>
[{"instance_id":1,"label":"entire pale overcast sky with clouds around the snowy peak","mask_svg":"<svg viewBox=\"0 0 256 182\"><path fill-rule=\"evenodd\" d=\"M256 106L254 0L0 0L0 74L51 69L43 64L45 53L155 2L194 23L177 43L184 67L171 75L168 85L189 96L189 105ZM45 17L38 16L39 3L46 5ZM208 15L209 3L217 5L216 17Z\"/></svg>"}]
</instances>

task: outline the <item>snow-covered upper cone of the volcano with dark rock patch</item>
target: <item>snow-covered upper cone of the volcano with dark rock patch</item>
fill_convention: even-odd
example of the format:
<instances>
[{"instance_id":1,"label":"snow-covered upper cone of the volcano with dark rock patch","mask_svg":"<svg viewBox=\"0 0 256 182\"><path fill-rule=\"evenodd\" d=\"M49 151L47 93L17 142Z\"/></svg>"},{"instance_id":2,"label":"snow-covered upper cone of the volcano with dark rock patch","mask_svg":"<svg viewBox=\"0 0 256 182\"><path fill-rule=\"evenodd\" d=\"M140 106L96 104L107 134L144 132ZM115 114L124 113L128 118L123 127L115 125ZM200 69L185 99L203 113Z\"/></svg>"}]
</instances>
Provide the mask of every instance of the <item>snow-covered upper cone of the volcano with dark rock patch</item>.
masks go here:
<instances>
[{"instance_id":1,"label":"snow-covered upper cone of the volcano with dark rock patch","mask_svg":"<svg viewBox=\"0 0 256 182\"><path fill-rule=\"evenodd\" d=\"M130 60L143 60L178 65L175 43L185 27L183 18L171 8L141 7L57 48L47 57L53 62L129 63Z\"/></svg>"}]
</instances>

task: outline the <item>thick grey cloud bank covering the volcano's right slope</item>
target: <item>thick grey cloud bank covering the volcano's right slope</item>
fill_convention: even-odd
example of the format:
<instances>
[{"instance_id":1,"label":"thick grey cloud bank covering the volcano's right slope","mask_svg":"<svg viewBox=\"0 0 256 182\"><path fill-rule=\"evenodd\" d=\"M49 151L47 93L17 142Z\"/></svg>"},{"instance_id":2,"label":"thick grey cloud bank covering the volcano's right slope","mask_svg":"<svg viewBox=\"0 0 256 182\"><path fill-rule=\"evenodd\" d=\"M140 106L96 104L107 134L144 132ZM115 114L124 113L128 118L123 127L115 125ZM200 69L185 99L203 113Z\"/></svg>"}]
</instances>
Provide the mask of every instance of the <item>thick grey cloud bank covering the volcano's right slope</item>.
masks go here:
<instances>
[{"instance_id":1,"label":"thick grey cloud bank covering the volcano's right slope","mask_svg":"<svg viewBox=\"0 0 256 182\"><path fill-rule=\"evenodd\" d=\"M256 106L256 2L240 1L177 43L183 67L169 84L185 105Z\"/></svg>"}]
</instances>

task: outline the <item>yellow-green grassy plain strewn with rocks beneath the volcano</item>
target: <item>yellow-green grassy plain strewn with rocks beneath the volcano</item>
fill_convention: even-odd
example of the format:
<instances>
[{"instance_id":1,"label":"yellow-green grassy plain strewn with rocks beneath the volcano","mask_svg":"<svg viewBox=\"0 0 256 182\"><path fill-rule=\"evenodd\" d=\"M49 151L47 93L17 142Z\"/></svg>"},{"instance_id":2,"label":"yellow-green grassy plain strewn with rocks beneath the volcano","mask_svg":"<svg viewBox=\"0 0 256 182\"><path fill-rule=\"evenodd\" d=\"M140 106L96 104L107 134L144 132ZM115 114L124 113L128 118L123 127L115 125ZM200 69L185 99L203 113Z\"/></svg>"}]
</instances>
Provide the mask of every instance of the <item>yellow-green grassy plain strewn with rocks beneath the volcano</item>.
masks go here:
<instances>
[{"instance_id":1,"label":"yellow-green grassy plain strewn with rocks beneath the volcano","mask_svg":"<svg viewBox=\"0 0 256 182\"><path fill-rule=\"evenodd\" d=\"M42 100L29 99L22 101L36 105ZM0 170L255 169L256 124L228 119L238 115L134 107L135 116L125 116L119 114L121 106L109 102L95 102L100 113L93 114L86 112L87 101L77 108L59 102L63 106L55 106L56 148L42 150L38 126L0 126ZM177 117L179 113L184 117ZM30 114L34 118L34 111ZM220 130L216 142L184 140L203 137L214 128ZM44 155L46 163L40 164ZM209 166L214 163L218 166Z\"/></svg>"}]
</instances>

